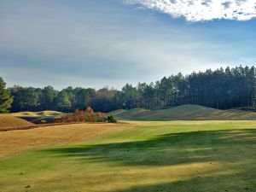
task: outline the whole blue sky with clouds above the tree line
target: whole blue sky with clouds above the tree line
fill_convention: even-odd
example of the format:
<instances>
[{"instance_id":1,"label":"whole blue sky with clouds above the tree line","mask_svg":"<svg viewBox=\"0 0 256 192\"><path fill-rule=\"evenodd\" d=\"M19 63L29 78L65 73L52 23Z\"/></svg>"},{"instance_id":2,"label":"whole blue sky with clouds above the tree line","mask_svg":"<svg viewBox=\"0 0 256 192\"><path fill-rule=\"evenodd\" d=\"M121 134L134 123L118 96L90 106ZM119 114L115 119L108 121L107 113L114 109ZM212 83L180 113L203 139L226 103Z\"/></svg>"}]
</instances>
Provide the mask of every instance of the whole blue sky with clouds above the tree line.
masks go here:
<instances>
[{"instance_id":1,"label":"whole blue sky with clouds above the tree line","mask_svg":"<svg viewBox=\"0 0 256 192\"><path fill-rule=\"evenodd\" d=\"M256 0L0 0L7 85L121 89L256 63Z\"/></svg>"}]
</instances>

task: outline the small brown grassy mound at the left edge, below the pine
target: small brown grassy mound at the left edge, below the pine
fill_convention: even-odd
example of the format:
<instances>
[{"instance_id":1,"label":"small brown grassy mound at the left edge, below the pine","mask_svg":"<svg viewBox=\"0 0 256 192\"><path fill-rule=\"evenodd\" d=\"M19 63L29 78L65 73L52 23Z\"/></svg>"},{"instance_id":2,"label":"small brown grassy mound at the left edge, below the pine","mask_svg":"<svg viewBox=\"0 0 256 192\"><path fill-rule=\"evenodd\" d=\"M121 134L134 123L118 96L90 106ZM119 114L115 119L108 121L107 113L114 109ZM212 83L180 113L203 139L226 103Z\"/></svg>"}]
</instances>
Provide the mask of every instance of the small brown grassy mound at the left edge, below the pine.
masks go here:
<instances>
[{"instance_id":1,"label":"small brown grassy mound at the left edge, below the pine","mask_svg":"<svg viewBox=\"0 0 256 192\"><path fill-rule=\"evenodd\" d=\"M26 121L25 119L20 119L8 115L0 115L0 130L6 128L26 127L31 125L33 124Z\"/></svg>"}]
</instances>

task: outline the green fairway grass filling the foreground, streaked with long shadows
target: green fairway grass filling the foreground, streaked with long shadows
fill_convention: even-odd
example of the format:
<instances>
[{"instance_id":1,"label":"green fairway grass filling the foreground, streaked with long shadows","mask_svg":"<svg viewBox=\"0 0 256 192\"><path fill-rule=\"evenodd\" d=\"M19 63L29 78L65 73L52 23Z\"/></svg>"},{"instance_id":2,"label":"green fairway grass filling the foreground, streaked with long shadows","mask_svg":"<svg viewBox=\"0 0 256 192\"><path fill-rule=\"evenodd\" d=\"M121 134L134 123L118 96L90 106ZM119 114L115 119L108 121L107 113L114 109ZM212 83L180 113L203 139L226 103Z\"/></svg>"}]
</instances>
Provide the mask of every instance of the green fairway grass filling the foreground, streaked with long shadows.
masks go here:
<instances>
[{"instance_id":1,"label":"green fairway grass filling the foreground, streaked with long shadows","mask_svg":"<svg viewBox=\"0 0 256 192\"><path fill-rule=\"evenodd\" d=\"M255 157L254 121L142 122L0 159L0 191L256 191Z\"/></svg>"}]
</instances>

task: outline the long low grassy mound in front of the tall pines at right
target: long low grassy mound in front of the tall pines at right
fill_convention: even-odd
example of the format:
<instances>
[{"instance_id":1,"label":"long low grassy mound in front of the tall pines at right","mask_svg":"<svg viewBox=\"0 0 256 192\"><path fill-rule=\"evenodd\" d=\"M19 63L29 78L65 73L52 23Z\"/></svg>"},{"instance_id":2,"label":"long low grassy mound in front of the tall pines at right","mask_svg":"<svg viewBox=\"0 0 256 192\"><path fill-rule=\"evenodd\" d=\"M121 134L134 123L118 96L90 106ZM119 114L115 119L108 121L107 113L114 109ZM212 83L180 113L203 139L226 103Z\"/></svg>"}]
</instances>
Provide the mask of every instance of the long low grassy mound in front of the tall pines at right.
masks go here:
<instances>
[{"instance_id":1,"label":"long low grassy mound in front of the tall pines at right","mask_svg":"<svg viewBox=\"0 0 256 192\"><path fill-rule=\"evenodd\" d=\"M148 110L134 108L116 110L113 114L117 119L137 120L249 120L256 119L256 113L238 109L219 110L199 105L182 105L174 108Z\"/></svg>"}]
</instances>

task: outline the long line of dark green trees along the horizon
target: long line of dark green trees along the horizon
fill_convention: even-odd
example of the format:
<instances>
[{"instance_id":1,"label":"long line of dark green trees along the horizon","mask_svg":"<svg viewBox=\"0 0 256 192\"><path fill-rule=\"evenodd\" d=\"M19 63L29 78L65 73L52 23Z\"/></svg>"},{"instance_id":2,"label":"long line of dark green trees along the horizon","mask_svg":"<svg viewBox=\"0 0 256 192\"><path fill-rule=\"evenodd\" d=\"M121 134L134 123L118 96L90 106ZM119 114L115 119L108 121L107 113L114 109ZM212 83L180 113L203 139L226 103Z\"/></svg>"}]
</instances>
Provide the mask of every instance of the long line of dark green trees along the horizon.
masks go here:
<instances>
[{"instance_id":1,"label":"long line of dark green trees along the horizon","mask_svg":"<svg viewBox=\"0 0 256 192\"><path fill-rule=\"evenodd\" d=\"M1 103L5 98L9 103L5 104L5 108L10 108L11 112L73 112L89 106L96 112L109 112L120 108L166 108L183 104L198 104L219 109L254 109L255 74L255 67L226 67L214 71L209 69L185 76L178 73L150 84L125 84L122 90L108 87L101 90L67 87L59 91L51 86L43 89L20 86L3 89L5 84L2 82L0 96L3 94L2 90L5 90L5 97L0 97L0 108L3 108ZM6 98L7 95L9 98ZM0 112L4 110L0 109Z\"/></svg>"}]
</instances>

